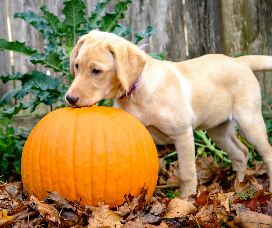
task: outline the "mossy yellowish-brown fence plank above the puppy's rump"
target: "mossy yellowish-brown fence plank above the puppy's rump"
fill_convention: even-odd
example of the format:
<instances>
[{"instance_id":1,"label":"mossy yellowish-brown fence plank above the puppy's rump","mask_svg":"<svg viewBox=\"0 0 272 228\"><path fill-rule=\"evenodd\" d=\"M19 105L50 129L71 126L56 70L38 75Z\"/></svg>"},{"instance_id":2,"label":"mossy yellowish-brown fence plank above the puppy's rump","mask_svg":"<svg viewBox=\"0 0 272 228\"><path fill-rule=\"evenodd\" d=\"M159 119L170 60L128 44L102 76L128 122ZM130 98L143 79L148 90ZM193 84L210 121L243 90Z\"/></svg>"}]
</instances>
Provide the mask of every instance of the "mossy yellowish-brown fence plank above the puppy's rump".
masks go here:
<instances>
[{"instance_id":1,"label":"mossy yellowish-brown fence plank above the puppy's rump","mask_svg":"<svg viewBox=\"0 0 272 228\"><path fill-rule=\"evenodd\" d=\"M225 54L235 57L247 52L243 0L221 0Z\"/></svg>"}]
</instances>

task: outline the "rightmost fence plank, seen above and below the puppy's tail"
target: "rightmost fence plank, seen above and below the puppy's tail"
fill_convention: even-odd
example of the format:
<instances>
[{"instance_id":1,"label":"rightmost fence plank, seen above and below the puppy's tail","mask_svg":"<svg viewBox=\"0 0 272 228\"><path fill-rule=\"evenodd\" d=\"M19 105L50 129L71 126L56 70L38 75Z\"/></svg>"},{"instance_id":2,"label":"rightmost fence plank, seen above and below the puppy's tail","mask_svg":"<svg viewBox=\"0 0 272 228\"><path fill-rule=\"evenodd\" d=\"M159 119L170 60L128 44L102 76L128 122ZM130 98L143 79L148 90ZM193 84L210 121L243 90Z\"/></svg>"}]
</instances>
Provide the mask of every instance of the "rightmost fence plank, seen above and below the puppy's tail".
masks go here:
<instances>
[{"instance_id":1,"label":"rightmost fence plank, seen above and below the puppy's tail","mask_svg":"<svg viewBox=\"0 0 272 228\"><path fill-rule=\"evenodd\" d=\"M272 56L272 0L260 0L262 54ZM264 72L264 88L272 96L272 72Z\"/></svg>"}]
</instances>

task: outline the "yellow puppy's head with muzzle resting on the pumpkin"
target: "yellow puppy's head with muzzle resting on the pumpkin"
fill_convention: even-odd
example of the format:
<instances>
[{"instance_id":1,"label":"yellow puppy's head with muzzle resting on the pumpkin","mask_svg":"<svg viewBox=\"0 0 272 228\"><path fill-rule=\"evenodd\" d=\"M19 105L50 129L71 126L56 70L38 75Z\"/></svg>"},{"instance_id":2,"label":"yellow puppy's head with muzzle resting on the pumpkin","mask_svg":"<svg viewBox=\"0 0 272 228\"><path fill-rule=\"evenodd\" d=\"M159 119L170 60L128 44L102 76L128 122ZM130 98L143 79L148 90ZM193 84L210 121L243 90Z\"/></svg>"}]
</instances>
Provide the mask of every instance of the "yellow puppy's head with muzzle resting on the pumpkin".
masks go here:
<instances>
[{"instance_id":1,"label":"yellow puppy's head with muzzle resting on the pumpkin","mask_svg":"<svg viewBox=\"0 0 272 228\"><path fill-rule=\"evenodd\" d=\"M79 39L71 54L70 71L75 79L66 102L82 107L118 98L137 80L145 64L145 53L136 45L93 30Z\"/></svg>"}]
</instances>

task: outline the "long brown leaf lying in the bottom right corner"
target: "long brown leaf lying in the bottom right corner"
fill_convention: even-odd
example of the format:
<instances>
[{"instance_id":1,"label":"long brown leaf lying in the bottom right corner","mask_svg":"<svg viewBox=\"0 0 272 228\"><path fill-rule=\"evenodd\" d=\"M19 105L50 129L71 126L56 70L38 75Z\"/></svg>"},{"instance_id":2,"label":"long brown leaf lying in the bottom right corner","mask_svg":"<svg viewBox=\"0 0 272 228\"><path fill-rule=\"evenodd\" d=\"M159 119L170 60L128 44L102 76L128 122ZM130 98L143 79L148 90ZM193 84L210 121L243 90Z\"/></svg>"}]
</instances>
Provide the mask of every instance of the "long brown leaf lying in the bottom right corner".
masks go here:
<instances>
[{"instance_id":1,"label":"long brown leaf lying in the bottom right corner","mask_svg":"<svg viewBox=\"0 0 272 228\"><path fill-rule=\"evenodd\" d=\"M272 228L272 217L256 212L243 212L233 219L233 224L241 228Z\"/></svg>"}]
</instances>

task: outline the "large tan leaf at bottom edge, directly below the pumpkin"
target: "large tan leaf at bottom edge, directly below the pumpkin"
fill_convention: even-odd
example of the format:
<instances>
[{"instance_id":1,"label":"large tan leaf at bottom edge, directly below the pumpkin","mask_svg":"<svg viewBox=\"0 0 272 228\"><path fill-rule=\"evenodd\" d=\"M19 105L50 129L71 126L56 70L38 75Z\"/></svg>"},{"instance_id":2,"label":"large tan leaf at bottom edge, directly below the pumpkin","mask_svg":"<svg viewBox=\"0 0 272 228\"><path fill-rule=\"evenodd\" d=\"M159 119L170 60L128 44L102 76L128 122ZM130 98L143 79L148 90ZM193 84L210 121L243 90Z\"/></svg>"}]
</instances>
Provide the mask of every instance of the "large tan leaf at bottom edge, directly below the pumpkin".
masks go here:
<instances>
[{"instance_id":1,"label":"large tan leaf at bottom edge, directly below the pumpkin","mask_svg":"<svg viewBox=\"0 0 272 228\"><path fill-rule=\"evenodd\" d=\"M101 205L93 211L92 216L89 218L88 228L102 226L121 227L122 224L120 221L124 222L121 213L109 210L108 206Z\"/></svg>"}]
</instances>

